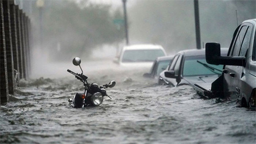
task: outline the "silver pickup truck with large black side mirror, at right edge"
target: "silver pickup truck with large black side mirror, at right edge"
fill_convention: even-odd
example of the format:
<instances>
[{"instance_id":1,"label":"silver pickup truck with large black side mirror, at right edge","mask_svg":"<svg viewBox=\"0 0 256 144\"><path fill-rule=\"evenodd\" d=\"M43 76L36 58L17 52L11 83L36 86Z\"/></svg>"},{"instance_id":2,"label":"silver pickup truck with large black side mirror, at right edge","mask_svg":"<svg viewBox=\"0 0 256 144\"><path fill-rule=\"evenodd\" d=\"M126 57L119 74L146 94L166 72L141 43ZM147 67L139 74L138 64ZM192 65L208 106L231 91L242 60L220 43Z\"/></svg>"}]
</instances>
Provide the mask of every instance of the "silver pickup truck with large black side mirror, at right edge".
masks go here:
<instances>
[{"instance_id":1,"label":"silver pickup truck with large black side mirror, at right edge","mask_svg":"<svg viewBox=\"0 0 256 144\"><path fill-rule=\"evenodd\" d=\"M199 95L237 100L242 107L256 106L256 19L245 20L234 32L227 56L220 44L206 43L206 61L224 65L222 75L213 83L194 84Z\"/></svg>"}]
</instances>

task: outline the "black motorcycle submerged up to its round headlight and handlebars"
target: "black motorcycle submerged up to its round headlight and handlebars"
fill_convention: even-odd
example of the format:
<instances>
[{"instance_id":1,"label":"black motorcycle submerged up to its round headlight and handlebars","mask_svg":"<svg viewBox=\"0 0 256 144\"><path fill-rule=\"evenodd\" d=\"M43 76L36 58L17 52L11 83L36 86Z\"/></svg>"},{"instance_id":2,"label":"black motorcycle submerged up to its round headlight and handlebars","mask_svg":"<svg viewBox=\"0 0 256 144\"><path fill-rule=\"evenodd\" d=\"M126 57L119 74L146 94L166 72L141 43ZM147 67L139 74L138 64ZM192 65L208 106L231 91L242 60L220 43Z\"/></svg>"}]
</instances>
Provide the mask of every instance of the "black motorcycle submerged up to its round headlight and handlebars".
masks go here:
<instances>
[{"instance_id":1,"label":"black motorcycle submerged up to its round headlight and handlebars","mask_svg":"<svg viewBox=\"0 0 256 144\"><path fill-rule=\"evenodd\" d=\"M96 83L89 84L87 82L88 77L83 75L83 70L80 66L80 63L81 59L79 57L75 57L73 59L73 64L76 66L79 65L82 73L75 73L69 69L67 71L72 75L75 75L76 79L80 80L83 83L84 93L76 93L73 99L68 99L69 105L75 108L81 108L86 106L99 106L103 102L103 97L108 96L108 94L106 93L106 88L114 87L116 85L116 82L113 80L109 84L105 84L100 87Z\"/></svg>"}]
</instances>

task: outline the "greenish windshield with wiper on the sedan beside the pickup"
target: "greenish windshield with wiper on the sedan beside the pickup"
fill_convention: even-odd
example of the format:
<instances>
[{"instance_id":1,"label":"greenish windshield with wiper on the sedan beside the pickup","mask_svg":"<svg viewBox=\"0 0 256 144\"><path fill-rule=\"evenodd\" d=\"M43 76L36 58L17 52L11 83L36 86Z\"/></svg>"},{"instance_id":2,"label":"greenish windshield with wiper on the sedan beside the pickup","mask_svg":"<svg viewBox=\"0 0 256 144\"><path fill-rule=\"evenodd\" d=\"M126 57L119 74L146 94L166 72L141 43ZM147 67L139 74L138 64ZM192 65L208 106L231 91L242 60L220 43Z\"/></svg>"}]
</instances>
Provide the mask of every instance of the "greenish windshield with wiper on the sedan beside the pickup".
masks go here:
<instances>
[{"instance_id":1,"label":"greenish windshield with wiper on the sedan beside the pickup","mask_svg":"<svg viewBox=\"0 0 256 144\"><path fill-rule=\"evenodd\" d=\"M186 57L183 76L221 75L223 65L212 65L206 62L205 56Z\"/></svg>"}]
</instances>

